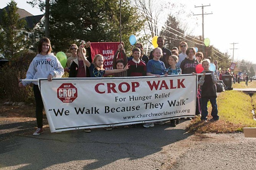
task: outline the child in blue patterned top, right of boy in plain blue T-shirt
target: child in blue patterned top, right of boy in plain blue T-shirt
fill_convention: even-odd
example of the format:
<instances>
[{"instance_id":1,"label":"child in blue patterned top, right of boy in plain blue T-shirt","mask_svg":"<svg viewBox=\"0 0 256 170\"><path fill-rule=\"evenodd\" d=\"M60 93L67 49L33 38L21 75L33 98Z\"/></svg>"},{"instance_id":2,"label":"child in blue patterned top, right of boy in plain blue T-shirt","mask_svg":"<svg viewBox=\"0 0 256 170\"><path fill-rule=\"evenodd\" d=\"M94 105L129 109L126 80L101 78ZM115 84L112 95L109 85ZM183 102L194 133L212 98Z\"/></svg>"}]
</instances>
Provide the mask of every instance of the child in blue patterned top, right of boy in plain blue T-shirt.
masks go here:
<instances>
[{"instance_id":1,"label":"child in blue patterned top, right of boy in plain blue T-shirt","mask_svg":"<svg viewBox=\"0 0 256 170\"><path fill-rule=\"evenodd\" d=\"M169 57L168 63L170 65L170 67L165 70L165 74L164 74L165 76L181 74L180 67L176 66L177 62L178 62L177 55L171 55ZM170 120L170 123L171 123L172 127L175 127L179 123L179 119L172 119L172 120Z\"/></svg>"}]
</instances>

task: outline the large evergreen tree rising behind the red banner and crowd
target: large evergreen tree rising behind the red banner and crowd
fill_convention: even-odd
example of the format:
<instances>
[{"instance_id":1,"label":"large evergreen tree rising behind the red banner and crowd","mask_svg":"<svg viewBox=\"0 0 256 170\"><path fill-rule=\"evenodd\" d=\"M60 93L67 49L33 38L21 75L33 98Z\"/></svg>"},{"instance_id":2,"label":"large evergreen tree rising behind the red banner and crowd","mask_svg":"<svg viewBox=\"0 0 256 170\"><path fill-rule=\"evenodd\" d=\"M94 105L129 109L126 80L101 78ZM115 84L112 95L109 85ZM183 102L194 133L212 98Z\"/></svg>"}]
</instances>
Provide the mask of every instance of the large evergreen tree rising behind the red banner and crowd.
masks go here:
<instances>
[{"instance_id":1,"label":"large evergreen tree rising behind the red banner and crowd","mask_svg":"<svg viewBox=\"0 0 256 170\"><path fill-rule=\"evenodd\" d=\"M35 2L32 3L35 5ZM137 16L129 1L122 1L122 40L127 49L130 35L139 32L143 25ZM51 1L49 25L53 49L63 51L71 43L80 43L80 40L119 42L119 20L119 0ZM36 33L39 34L37 37L44 35L42 29Z\"/></svg>"}]
</instances>

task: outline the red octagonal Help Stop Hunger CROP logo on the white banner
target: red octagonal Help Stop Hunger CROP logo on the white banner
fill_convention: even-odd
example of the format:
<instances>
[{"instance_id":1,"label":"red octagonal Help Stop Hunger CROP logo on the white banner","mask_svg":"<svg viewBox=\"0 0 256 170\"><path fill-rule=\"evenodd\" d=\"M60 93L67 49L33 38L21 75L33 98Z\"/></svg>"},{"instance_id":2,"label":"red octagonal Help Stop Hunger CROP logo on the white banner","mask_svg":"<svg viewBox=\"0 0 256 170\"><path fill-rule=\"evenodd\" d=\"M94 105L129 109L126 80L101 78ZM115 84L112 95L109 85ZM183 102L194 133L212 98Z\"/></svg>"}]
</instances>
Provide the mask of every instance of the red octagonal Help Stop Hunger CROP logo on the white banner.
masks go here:
<instances>
[{"instance_id":1,"label":"red octagonal Help Stop Hunger CROP logo on the white banner","mask_svg":"<svg viewBox=\"0 0 256 170\"><path fill-rule=\"evenodd\" d=\"M72 103L77 97L77 89L72 83L63 83L57 89L57 95L63 103Z\"/></svg>"}]
</instances>

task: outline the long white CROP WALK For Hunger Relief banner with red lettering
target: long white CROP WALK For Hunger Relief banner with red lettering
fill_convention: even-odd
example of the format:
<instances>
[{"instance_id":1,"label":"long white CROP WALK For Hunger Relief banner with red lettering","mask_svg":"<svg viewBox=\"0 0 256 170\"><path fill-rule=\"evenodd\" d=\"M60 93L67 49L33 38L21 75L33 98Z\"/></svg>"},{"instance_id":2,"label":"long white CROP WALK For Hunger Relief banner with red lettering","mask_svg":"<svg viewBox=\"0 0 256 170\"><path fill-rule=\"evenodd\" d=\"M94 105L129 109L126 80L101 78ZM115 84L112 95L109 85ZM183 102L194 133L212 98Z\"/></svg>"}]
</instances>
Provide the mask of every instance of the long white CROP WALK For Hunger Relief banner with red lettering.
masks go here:
<instances>
[{"instance_id":1,"label":"long white CROP WALK For Hunger Relief banner with red lettering","mask_svg":"<svg viewBox=\"0 0 256 170\"><path fill-rule=\"evenodd\" d=\"M127 78L39 79L50 131L194 117L192 74Z\"/></svg>"}]
</instances>

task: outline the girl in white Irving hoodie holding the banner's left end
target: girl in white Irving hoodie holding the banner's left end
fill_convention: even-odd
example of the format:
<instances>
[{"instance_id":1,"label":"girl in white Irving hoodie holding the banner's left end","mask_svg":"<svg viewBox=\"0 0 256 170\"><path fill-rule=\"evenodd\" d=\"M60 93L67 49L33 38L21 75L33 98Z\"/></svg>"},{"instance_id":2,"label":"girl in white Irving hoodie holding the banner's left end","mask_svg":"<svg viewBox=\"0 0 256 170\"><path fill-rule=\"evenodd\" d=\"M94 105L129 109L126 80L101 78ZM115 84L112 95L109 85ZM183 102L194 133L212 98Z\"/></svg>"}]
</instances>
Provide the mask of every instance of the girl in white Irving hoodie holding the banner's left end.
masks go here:
<instances>
[{"instance_id":1,"label":"girl in white Irving hoodie holding the banner's left end","mask_svg":"<svg viewBox=\"0 0 256 170\"><path fill-rule=\"evenodd\" d=\"M37 79L37 78L47 78L48 81L52 81L53 77L60 78L64 74L64 69L57 57L51 53L52 47L50 40L47 37L42 38L39 41L38 54L32 60L29 65L26 79ZM30 84L29 81L19 82L19 87L26 86ZM38 136L43 133L43 108L44 104L42 101L41 93L37 81L32 82L34 97L36 99L36 121L37 121L37 130L33 133L34 136Z\"/></svg>"}]
</instances>

